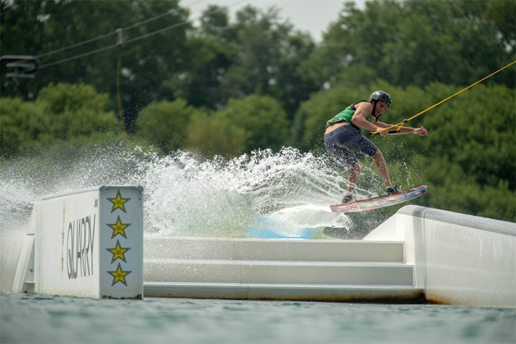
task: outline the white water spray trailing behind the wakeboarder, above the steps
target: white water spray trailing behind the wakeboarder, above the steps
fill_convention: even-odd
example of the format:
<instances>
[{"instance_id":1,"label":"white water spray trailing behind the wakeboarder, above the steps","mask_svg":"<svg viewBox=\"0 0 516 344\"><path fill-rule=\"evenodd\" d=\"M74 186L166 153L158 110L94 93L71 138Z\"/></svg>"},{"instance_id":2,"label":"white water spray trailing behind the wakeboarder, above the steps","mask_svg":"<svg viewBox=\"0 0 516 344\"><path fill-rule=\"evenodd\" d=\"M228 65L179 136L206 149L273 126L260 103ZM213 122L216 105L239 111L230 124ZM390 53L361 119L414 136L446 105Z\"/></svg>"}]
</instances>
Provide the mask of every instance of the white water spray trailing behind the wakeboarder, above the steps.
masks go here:
<instances>
[{"instance_id":1,"label":"white water spray trailing behind the wakeboarder, above the steps","mask_svg":"<svg viewBox=\"0 0 516 344\"><path fill-rule=\"evenodd\" d=\"M328 206L341 199L346 180L326 156L283 148L201 161L120 145L80 158L3 162L0 235L25 233L39 197L109 184L143 186L145 235L246 237L260 226L286 236L306 228L350 230L348 217Z\"/></svg>"}]
</instances>

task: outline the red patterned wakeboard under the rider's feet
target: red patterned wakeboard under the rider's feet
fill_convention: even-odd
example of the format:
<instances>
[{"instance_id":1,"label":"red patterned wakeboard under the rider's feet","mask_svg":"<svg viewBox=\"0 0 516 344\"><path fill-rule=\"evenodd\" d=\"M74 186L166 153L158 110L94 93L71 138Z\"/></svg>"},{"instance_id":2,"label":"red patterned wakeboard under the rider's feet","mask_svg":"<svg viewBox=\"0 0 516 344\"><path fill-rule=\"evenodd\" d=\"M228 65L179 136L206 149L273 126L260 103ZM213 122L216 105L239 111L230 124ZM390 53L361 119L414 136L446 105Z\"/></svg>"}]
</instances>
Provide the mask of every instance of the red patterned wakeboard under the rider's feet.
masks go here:
<instances>
[{"instance_id":1,"label":"red patterned wakeboard under the rider's feet","mask_svg":"<svg viewBox=\"0 0 516 344\"><path fill-rule=\"evenodd\" d=\"M401 191L393 195L378 196L358 200L350 203L331 204L330 209L334 213L355 213L357 211L370 211L384 206L394 206L418 198L427 193L427 186L421 185L415 189Z\"/></svg>"}]
</instances>

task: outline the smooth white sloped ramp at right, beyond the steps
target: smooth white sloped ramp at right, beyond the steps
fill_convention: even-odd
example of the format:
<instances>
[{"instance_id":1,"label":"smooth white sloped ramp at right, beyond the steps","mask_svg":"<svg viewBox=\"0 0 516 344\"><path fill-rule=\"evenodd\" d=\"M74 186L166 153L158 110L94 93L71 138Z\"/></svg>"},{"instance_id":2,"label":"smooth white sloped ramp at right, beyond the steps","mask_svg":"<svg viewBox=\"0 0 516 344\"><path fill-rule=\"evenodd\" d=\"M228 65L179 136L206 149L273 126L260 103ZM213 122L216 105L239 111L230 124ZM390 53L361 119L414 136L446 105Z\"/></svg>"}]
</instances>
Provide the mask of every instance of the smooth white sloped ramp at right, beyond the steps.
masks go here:
<instances>
[{"instance_id":1,"label":"smooth white sloped ramp at right, beyond the steps","mask_svg":"<svg viewBox=\"0 0 516 344\"><path fill-rule=\"evenodd\" d=\"M404 206L364 241L405 242L427 301L516 308L516 224Z\"/></svg>"}]
</instances>

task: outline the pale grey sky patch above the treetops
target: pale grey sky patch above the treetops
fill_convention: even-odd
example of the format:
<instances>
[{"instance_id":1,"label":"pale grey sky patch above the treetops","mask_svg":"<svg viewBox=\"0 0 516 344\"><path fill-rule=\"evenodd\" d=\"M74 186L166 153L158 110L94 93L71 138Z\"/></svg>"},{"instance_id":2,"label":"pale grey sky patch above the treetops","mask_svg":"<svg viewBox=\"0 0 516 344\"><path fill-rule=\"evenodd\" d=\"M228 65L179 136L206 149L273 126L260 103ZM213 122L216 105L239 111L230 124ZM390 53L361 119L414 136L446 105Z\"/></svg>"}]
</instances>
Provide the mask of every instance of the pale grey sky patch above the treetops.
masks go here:
<instances>
[{"instance_id":1,"label":"pale grey sky patch above the treetops","mask_svg":"<svg viewBox=\"0 0 516 344\"><path fill-rule=\"evenodd\" d=\"M364 8L365 1L354 0L360 9ZM182 0L180 4L191 10L191 18L199 17L208 5L228 7L232 18L235 12L247 5L261 10L276 6L283 19L288 18L297 30L310 32L319 42L327 26L338 19L344 3L345 0Z\"/></svg>"}]
</instances>

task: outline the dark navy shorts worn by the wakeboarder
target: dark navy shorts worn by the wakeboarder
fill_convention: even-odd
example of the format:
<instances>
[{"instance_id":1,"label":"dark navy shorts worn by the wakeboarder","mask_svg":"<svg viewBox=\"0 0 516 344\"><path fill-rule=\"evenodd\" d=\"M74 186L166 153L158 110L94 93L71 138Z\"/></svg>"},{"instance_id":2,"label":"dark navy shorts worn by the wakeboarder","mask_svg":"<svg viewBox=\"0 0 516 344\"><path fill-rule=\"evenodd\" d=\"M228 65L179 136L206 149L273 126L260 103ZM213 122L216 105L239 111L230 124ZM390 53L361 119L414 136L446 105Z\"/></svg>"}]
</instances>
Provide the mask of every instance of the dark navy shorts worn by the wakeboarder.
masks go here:
<instances>
[{"instance_id":1,"label":"dark navy shorts worn by the wakeboarder","mask_svg":"<svg viewBox=\"0 0 516 344\"><path fill-rule=\"evenodd\" d=\"M358 162L356 153L373 156L378 151L378 147L352 125L343 125L327 133L324 146L344 166L354 166Z\"/></svg>"}]
</instances>

